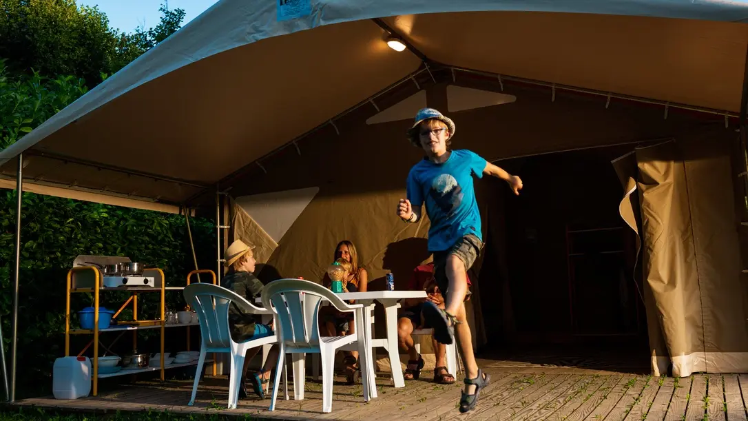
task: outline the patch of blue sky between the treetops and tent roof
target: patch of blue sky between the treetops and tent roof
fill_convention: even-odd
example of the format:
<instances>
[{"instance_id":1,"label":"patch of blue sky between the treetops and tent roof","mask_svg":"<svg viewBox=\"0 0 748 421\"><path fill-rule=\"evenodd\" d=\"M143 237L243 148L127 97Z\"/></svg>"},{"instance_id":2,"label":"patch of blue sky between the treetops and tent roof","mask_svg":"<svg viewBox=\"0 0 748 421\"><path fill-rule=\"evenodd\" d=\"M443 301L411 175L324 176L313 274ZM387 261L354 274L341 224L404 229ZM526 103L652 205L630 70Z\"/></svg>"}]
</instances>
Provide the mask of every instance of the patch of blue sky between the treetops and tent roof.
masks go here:
<instances>
[{"instance_id":1,"label":"patch of blue sky between the treetops and tent roof","mask_svg":"<svg viewBox=\"0 0 748 421\"><path fill-rule=\"evenodd\" d=\"M109 25L120 31L132 32L135 28L153 28L159 24L159 7L166 0L78 0L78 4L98 6L106 13ZM182 25L196 18L217 0L168 0L169 9L184 9L186 16Z\"/></svg>"}]
</instances>

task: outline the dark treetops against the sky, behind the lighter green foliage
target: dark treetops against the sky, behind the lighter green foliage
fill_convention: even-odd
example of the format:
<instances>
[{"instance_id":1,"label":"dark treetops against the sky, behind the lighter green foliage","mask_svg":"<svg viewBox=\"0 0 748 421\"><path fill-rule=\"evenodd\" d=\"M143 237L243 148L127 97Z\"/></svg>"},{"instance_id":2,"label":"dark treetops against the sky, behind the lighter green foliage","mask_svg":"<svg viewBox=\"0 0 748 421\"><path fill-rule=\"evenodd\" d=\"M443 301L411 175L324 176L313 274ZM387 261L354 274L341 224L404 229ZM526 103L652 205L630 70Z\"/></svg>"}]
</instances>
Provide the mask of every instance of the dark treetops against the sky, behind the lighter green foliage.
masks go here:
<instances>
[{"instance_id":1,"label":"dark treetops against the sky, behind the lighter green foliage","mask_svg":"<svg viewBox=\"0 0 748 421\"><path fill-rule=\"evenodd\" d=\"M13 73L75 75L93 87L180 28L184 10L159 10L156 28L126 34L75 0L0 0L0 58Z\"/></svg>"}]
</instances>

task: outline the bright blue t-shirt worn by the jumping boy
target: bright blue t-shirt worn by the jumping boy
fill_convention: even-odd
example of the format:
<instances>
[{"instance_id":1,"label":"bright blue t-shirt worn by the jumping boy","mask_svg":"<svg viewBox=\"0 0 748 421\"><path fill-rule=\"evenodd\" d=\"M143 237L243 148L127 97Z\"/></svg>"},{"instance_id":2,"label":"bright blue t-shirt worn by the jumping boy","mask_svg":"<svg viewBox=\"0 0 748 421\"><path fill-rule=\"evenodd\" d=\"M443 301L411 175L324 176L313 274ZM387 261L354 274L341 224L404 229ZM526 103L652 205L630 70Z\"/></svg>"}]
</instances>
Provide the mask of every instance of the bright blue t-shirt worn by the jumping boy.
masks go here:
<instances>
[{"instance_id":1,"label":"bright blue t-shirt worn by the jumping boy","mask_svg":"<svg viewBox=\"0 0 748 421\"><path fill-rule=\"evenodd\" d=\"M414 208L426 202L429 251L445 251L468 234L480 233L480 212L473 176L482 178L486 161L469 150L453 150L447 162L423 159L408 173L408 200Z\"/></svg>"}]
</instances>

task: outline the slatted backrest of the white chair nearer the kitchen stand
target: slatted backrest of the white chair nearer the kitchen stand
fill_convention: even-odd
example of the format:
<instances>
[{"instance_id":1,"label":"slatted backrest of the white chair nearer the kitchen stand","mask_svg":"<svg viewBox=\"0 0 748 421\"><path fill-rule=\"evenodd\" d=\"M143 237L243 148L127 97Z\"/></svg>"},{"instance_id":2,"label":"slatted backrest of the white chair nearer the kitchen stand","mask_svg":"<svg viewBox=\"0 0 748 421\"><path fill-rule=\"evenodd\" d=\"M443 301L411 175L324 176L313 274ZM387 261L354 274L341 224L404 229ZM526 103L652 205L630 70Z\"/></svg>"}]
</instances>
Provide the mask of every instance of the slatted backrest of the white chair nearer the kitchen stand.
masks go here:
<instances>
[{"instance_id":1,"label":"slatted backrest of the white chair nearer the kitchen stand","mask_svg":"<svg viewBox=\"0 0 748 421\"><path fill-rule=\"evenodd\" d=\"M266 314L269 310L256 307L236 292L212 283L191 283L184 289L184 296L197 313L200 336L206 348L229 348L229 307L236 304L245 313Z\"/></svg>"}]
</instances>

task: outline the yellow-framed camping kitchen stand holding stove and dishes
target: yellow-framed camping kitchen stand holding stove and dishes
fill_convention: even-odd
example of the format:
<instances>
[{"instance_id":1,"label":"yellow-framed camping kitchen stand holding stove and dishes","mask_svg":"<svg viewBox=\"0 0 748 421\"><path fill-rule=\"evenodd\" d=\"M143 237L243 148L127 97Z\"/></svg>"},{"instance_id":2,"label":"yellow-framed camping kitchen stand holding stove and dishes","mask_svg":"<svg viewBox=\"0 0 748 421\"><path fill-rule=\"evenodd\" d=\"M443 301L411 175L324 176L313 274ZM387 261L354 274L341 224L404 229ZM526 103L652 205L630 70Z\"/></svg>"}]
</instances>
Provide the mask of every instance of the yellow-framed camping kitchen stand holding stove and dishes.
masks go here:
<instances>
[{"instance_id":1,"label":"yellow-framed camping kitchen stand holding stove and dishes","mask_svg":"<svg viewBox=\"0 0 748 421\"><path fill-rule=\"evenodd\" d=\"M94 274L94 286L98 287L78 287L77 285L73 285L73 274L82 272L82 271L93 271ZM177 328L177 327L187 327L187 350L189 351L189 340L190 340L190 328L193 325L198 325L197 323L181 323L177 325L166 325L166 319L165 319L165 292L166 290L183 290L183 286L166 286L166 277L164 275L164 271L162 271L160 268L154 268L154 269L146 269L146 271L156 271L158 274L161 275L161 286L135 286L135 287L125 287L125 286L117 286L117 287L105 287L103 283L103 277L101 276L99 270L93 266L78 266L75 268L71 268L70 271L67 272L67 294L66 294L66 304L65 304L65 356L70 356L70 335L71 334L93 334L93 339L91 342L88 342L88 345L86 345L82 351L79 352L78 356L82 356L82 354L88 350L88 347L91 346L93 343L93 375L91 376L93 378L93 396L97 396L99 393L99 378L108 378L108 377L114 377L117 375L132 375L132 374L138 374L141 372L154 372L156 370L161 371L161 380L164 381L164 370L167 368L179 368L179 367L185 367L185 366L194 366L197 364L197 361L190 362L190 363L183 363L183 364L170 364L169 366L164 366L164 334L165 334L165 328ZM209 273L212 275L212 282L213 284L216 283L215 273L211 270L197 270L197 271L191 271L189 274L187 274L187 285L189 285L190 277L193 274L198 273ZM127 301L122 304L120 307L120 310L117 310L117 313L114 313L114 316L111 317L112 320L114 320L117 316L119 316L120 313L122 313L122 310L127 307L128 304L132 301L132 320L127 322L119 322L119 324L111 326L110 328L106 329L99 329L99 305L100 305L100 292L102 291L129 291L132 292L132 295L127 299ZM70 294L75 292L93 292L93 329L70 329ZM138 320L138 294L141 292L160 292L161 293L161 306L160 306L160 319L155 320ZM120 332L120 334L115 338L110 344L109 348L111 348L112 345L114 345L114 342L117 342L120 337L126 332L126 331L132 331L132 348L135 350L138 344L138 330L141 329L155 329L160 328L161 330L161 348L160 348L160 356L161 361L158 367L153 366L147 366L141 369L128 369L128 370L120 370L119 372L109 373L109 374L99 374L99 334L105 333L105 332ZM102 346L104 346L102 344ZM109 348L104 348L107 351L110 351ZM111 351L110 351L111 352ZM215 366L215 357L212 360L213 363L213 375L216 374L216 366Z\"/></svg>"}]
</instances>

